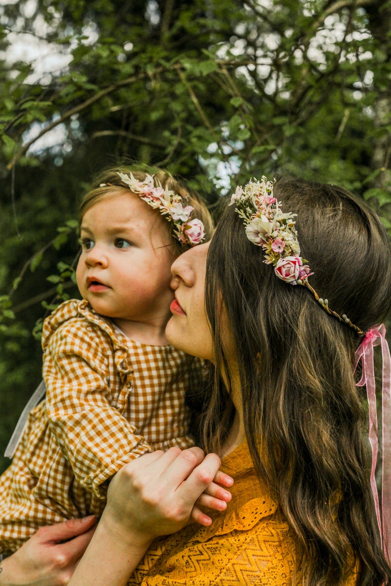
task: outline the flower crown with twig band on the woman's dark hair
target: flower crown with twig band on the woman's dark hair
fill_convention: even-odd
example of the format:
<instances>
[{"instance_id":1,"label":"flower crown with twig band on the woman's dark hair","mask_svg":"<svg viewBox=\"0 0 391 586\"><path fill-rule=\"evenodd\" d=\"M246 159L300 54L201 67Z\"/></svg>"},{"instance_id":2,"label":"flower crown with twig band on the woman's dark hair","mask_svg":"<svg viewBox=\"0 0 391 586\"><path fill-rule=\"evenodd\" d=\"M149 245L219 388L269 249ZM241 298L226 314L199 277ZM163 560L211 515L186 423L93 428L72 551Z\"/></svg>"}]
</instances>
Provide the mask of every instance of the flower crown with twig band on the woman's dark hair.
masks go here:
<instances>
[{"instance_id":1,"label":"flower crown with twig band on the woman's dark hair","mask_svg":"<svg viewBox=\"0 0 391 586\"><path fill-rule=\"evenodd\" d=\"M308 261L300 256L300 244L293 219L297 214L283 213L281 204L273 196L273 185L274 181L268 181L263 176L261 181L250 180L244 188L238 186L231 197L229 205L236 205L235 211L243 219L247 238L263 248L264 263L273 265L278 278L291 285L304 285L310 289L329 315L362 335L363 331L345 314L340 316L329 309L328 300L320 298L308 283L308 277L314 273L310 272Z\"/></svg>"}]
</instances>

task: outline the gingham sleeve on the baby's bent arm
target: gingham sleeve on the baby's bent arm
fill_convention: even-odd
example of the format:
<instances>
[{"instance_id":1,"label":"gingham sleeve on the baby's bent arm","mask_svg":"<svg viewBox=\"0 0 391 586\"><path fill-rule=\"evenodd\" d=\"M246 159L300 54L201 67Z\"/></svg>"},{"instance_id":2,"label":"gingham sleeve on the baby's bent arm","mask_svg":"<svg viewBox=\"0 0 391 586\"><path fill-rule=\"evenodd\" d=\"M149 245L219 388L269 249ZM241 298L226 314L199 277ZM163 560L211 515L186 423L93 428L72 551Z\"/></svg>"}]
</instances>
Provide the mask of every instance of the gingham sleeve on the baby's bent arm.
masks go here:
<instances>
[{"instance_id":1,"label":"gingham sleeve on the baby's bent arm","mask_svg":"<svg viewBox=\"0 0 391 586\"><path fill-rule=\"evenodd\" d=\"M101 498L105 481L151 451L121 414L131 371L125 350L116 350L106 333L73 318L50 337L43 364L50 428L77 481Z\"/></svg>"}]
</instances>

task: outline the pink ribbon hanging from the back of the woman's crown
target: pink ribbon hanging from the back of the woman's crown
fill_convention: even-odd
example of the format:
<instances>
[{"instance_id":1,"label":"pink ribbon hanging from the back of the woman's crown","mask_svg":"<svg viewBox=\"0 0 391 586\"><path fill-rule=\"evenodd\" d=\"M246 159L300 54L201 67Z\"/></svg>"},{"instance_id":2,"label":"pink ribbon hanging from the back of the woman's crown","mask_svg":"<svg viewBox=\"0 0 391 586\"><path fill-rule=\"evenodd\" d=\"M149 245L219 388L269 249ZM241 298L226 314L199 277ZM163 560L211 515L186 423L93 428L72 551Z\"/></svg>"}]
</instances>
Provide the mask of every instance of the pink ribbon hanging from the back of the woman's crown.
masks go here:
<instances>
[{"instance_id":1,"label":"pink ribbon hanging from the back of the woman's crown","mask_svg":"<svg viewBox=\"0 0 391 586\"><path fill-rule=\"evenodd\" d=\"M379 495L375 481L376 460L378 458L378 415L376 411L375 370L373 369L373 347L382 345L383 388L382 388L382 523L380 523ZM369 329L356 351L356 365L362 360L362 377L358 387L366 386L369 406L369 441L372 447L372 468L370 486L375 500L380 542L386 560L391 564L391 356L386 340L384 324Z\"/></svg>"}]
</instances>

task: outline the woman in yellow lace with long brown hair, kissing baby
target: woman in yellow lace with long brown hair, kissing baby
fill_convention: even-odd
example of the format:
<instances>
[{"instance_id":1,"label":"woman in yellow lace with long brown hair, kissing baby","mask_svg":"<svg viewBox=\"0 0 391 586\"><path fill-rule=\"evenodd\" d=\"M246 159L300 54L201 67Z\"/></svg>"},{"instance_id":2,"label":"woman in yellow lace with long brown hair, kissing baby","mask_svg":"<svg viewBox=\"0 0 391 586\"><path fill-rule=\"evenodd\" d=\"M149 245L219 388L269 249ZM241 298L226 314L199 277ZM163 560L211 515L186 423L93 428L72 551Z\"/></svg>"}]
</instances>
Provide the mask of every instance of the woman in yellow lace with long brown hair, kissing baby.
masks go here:
<instances>
[{"instance_id":1,"label":"woman in yellow lace with long brown hair, kissing baby","mask_svg":"<svg viewBox=\"0 0 391 586\"><path fill-rule=\"evenodd\" d=\"M390 308L387 234L331 185L263 180L232 203L210 247L172 265L166 329L176 347L215 364L198 442L234 477L232 502L209 527L186 526L218 456L143 456L111 481L71 585L130 575L143 585L391 581L353 377L356 350ZM387 556L388 529L383 517Z\"/></svg>"}]
</instances>

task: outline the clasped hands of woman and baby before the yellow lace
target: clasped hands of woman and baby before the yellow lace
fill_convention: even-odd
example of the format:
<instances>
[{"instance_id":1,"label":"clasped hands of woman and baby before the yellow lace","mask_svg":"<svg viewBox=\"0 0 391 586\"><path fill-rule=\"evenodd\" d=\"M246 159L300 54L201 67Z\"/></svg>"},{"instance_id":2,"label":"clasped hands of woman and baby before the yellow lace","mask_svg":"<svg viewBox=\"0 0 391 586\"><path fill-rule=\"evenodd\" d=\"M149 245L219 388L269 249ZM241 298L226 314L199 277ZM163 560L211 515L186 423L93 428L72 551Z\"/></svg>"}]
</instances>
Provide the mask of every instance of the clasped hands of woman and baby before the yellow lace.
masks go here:
<instances>
[{"instance_id":1,"label":"clasped hands of woman and baby before the yellow lace","mask_svg":"<svg viewBox=\"0 0 391 586\"><path fill-rule=\"evenodd\" d=\"M110 516L111 521L124 529L127 526L148 543L182 529L190 517L209 525L211 519L195 503L215 509L226 507L230 493L213 482L220 464L219 456L205 456L196 447L145 454L115 474L103 517ZM216 478L230 483L227 475Z\"/></svg>"}]
</instances>

